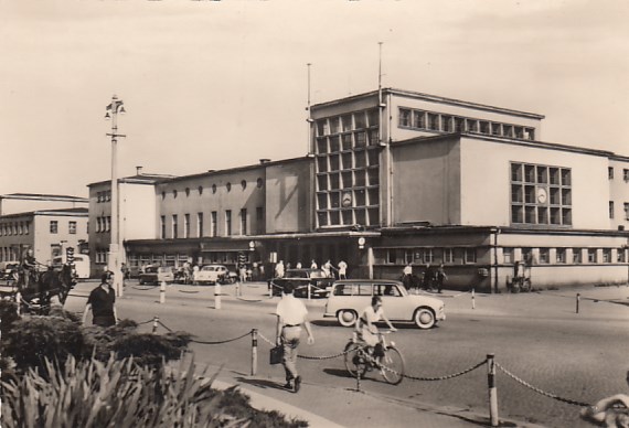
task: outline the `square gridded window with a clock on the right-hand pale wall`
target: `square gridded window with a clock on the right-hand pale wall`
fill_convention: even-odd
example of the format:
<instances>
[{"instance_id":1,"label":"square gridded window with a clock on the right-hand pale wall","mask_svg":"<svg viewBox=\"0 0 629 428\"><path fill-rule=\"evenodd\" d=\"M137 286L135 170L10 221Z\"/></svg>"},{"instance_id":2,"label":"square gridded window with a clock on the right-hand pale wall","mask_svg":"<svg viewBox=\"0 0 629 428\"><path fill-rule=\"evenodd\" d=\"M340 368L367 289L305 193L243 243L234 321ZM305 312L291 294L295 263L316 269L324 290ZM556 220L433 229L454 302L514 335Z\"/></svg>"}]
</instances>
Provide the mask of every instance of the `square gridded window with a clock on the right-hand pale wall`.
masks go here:
<instances>
[{"instance_id":1,"label":"square gridded window with a clock on the right-hand pale wall","mask_svg":"<svg viewBox=\"0 0 629 428\"><path fill-rule=\"evenodd\" d=\"M571 169L511 162L511 223L571 226Z\"/></svg>"}]
</instances>

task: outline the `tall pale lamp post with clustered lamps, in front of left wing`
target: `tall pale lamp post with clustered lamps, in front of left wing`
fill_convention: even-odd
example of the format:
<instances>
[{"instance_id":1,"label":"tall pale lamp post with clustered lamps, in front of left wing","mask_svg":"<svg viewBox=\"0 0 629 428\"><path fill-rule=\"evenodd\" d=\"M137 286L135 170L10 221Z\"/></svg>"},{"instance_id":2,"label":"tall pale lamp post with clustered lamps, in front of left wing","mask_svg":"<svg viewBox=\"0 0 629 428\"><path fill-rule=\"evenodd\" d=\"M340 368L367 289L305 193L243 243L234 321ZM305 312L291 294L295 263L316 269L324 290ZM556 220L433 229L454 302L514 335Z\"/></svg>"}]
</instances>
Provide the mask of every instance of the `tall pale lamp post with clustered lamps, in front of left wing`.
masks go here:
<instances>
[{"instance_id":1,"label":"tall pale lamp post with clustered lamps, in front of left wing","mask_svg":"<svg viewBox=\"0 0 629 428\"><path fill-rule=\"evenodd\" d=\"M118 133L118 114L125 114L122 100L116 95L111 97L111 104L107 106L105 119L111 119L111 238L109 243L109 258L107 269L114 272L114 289L116 296L122 296L122 272L120 269L120 216L118 214L118 137L126 137Z\"/></svg>"}]
</instances>

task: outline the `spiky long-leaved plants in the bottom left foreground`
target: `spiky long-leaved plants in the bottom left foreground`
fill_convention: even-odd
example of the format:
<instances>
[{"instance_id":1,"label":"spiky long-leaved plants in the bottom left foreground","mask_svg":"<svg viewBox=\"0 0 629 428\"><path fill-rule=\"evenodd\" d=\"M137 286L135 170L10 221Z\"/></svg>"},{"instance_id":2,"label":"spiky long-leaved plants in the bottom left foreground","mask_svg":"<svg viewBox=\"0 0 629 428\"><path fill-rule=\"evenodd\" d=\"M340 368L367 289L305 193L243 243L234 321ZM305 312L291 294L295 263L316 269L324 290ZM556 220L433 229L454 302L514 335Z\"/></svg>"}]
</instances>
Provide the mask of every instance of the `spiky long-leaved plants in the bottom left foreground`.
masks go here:
<instances>
[{"instance_id":1,"label":"spiky long-leaved plants in the bottom left foreground","mask_svg":"<svg viewBox=\"0 0 629 428\"><path fill-rule=\"evenodd\" d=\"M134 359L45 362L49 379L31 370L2 382L2 426L47 427L305 427L276 413L250 409L235 388L212 389L190 362L175 372L142 367ZM203 373L205 374L205 373ZM230 403L230 405L226 405Z\"/></svg>"}]
</instances>

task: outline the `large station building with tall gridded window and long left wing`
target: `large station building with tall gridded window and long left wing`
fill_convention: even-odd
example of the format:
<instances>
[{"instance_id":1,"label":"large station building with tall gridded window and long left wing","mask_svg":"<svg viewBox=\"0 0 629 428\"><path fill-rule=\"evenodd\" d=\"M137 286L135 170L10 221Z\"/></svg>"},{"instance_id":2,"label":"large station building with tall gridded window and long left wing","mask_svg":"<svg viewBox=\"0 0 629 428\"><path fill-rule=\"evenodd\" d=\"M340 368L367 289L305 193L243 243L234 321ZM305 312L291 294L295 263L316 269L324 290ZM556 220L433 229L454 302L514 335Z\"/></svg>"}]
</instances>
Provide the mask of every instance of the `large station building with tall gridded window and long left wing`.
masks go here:
<instances>
[{"instance_id":1,"label":"large station building with tall gridded window and long left wing","mask_svg":"<svg viewBox=\"0 0 629 428\"><path fill-rule=\"evenodd\" d=\"M393 88L314 105L302 158L121 180L142 186L137 210L120 199L121 222L141 223L121 226L127 261L246 257L267 277L280 259L343 259L354 278L444 264L449 288L488 292L516 263L534 287L627 282L629 158L544 141L543 119ZM107 186L89 185L90 225ZM89 242L106 249L106 231Z\"/></svg>"}]
</instances>

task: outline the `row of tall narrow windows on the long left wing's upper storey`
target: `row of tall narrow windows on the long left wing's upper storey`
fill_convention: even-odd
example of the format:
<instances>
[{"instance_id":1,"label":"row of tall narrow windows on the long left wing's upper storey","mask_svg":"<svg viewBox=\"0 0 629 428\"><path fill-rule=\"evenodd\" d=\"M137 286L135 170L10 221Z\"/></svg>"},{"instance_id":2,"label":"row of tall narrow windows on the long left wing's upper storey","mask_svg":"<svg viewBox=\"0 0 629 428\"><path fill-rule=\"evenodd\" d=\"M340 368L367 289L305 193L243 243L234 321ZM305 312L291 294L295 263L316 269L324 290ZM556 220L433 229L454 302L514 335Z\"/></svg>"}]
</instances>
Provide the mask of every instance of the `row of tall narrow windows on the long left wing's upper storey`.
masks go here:
<instances>
[{"instance_id":1,"label":"row of tall narrow windows on the long left wing's upper storey","mask_svg":"<svg viewBox=\"0 0 629 428\"><path fill-rule=\"evenodd\" d=\"M205 236L204 229L204 213L196 213L194 218L196 227L194 237L203 237ZM248 235L250 234L248 227L248 215L247 208L242 208L238 213L238 231L237 235ZM169 217L169 224L167 224L167 216L162 215L160 217L160 238L161 239L178 239L178 238L190 238L192 236L192 217L190 214L183 214L183 234L180 235L180 216L179 214L173 214ZM233 221L232 221L232 210L225 210L223 213L223 236L232 236L234 235L233 231ZM264 208L262 206L256 207L256 224L257 231L256 234L264 233ZM212 211L210 213L210 234L209 236L218 236L218 212Z\"/></svg>"}]
</instances>

